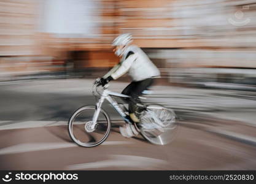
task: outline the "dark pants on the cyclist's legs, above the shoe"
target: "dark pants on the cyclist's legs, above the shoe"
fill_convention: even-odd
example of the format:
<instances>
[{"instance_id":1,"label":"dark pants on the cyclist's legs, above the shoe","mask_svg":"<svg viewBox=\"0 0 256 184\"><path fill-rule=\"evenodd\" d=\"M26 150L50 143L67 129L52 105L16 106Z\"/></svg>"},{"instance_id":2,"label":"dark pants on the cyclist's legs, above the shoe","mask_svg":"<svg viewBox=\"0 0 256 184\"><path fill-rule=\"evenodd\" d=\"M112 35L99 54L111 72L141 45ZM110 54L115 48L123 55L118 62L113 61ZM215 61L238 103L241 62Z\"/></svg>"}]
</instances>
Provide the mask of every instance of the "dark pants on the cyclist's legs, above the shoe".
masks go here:
<instances>
[{"instance_id":1,"label":"dark pants on the cyclist's legs, above the shoe","mask_svg":"<svg viewBox=\"0 0 256 184\"><path fill-rule=\"evenodd\" d=\"M136 110L136 104L139 101L138 98L141 96L142 91L147 90L149 86L153 83L153 79L145 79L137 82L131 82L130 85L122 91L122 94L131 96L131 98L126 99L129 104L129 113L134 113Z\"/></svg>"}]
</instances>

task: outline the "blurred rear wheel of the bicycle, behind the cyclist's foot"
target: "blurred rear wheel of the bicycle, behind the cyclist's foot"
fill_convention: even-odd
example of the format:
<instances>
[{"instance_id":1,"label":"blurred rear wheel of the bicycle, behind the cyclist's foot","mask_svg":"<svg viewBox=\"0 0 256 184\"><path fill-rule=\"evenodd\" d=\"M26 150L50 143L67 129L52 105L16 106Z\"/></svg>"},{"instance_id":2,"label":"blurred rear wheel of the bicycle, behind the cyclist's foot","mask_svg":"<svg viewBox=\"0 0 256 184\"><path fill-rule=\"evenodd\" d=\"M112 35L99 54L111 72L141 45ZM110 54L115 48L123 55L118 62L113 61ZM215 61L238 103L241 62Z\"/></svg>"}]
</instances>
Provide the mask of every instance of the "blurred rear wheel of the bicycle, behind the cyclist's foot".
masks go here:
<instances>
[{"instance_id":1,"label":"blurred rear wheel of the bicycle, behind the cyclist's foot","mask_svg":"<svg viewBox=\"0 0 256 184\"><path fill-rule=\"evenodd\" d=\"M177 133L176 114L158 104L147 105L140 125L141 135L152 144L169 144Z\"/></svg>"}]
</instances>

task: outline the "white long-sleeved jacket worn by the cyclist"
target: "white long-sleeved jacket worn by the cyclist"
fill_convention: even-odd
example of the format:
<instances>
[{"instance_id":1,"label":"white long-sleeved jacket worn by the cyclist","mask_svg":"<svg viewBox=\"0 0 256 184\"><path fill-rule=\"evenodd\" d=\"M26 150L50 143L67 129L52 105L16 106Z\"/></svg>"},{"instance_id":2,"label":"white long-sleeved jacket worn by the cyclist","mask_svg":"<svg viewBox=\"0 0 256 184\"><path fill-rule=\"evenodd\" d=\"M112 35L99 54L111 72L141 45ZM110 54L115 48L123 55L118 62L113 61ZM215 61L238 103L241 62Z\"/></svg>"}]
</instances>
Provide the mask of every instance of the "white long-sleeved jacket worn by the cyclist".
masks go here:
<instances>
[{"instance_id":1,"label":"white long-sleeved jacket worn by the cyclist","mask_svg":"<svg viewBox=\"0 0 256 184\"><path fill-rule=\"evenodd\" d=\"M133 52L134 54L126 58L126 55L129 52ZM111 75L113 79L118 79L126 72L129 72L133 81L140 81L151 77L160 77L160 71L158 68L152 63L141 48L136 45L130 45L126 48L121 62L104 75L104 78Z\"/></svg>"}]
</instances>

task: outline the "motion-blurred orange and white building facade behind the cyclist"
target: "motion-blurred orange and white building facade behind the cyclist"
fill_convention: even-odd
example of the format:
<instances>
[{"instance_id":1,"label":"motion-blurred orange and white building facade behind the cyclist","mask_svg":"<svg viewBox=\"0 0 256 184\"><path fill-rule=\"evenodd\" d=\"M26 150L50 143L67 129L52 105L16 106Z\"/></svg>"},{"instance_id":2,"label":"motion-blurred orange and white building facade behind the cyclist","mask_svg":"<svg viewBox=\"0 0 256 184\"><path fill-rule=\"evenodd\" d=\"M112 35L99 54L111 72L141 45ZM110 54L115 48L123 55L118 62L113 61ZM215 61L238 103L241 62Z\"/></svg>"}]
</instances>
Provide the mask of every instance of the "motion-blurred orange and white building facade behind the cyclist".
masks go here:
<instances>
[{"instance_id":1,"label":"motion-blurred orange and white building facade behind the cyclist","mask_svg":"<svg viewBox=\"0 0 256 184\"><path fill-rule=\"evenodd\" d=\"M132 33L163 83L255 84L255 15L255 0L0 0L0 75L99 77L118 62L114 37Z\"/></svg>"}]
</instances>

